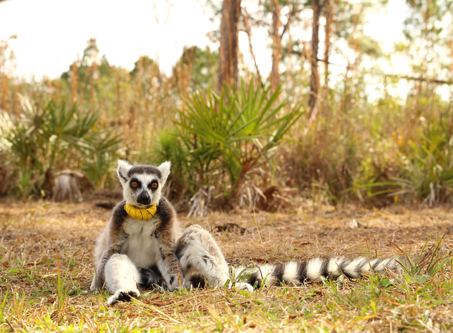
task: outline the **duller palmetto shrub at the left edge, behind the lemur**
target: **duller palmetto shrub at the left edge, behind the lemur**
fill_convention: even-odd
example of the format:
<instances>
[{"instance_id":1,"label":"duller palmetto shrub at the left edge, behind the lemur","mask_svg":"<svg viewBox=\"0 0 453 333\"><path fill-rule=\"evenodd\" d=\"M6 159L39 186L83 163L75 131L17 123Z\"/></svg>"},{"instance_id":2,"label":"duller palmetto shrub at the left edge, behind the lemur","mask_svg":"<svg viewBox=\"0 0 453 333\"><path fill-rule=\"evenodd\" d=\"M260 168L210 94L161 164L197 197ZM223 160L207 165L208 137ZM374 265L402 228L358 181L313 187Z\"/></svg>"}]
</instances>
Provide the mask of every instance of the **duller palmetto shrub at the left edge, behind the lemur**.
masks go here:
<instances>
[{"instance_id":1,"label":"duller palmetto shrub at the left edge, behind the lemur","mask_svg":"<svg viewBox=\"0 0 453 333\"><path fill-rule=\"evenodd\" d=\"M49 196L56 170L68 167L89 170L93 156L104 158L94 168L94 173L89 173L91 179L101 185L96 175L105 174L106 166L116 159L113 155L116 155L119 139L96 129L98 114L53 100L43 108L32 105L26 97L21 96L21 102L20 117L2 123L3 164L13 170L14 189L24 198L31 194ZM106 154L110 154L110 158ZM98 168L100 165L102 168Z\"/></svg>"}]
</instances>

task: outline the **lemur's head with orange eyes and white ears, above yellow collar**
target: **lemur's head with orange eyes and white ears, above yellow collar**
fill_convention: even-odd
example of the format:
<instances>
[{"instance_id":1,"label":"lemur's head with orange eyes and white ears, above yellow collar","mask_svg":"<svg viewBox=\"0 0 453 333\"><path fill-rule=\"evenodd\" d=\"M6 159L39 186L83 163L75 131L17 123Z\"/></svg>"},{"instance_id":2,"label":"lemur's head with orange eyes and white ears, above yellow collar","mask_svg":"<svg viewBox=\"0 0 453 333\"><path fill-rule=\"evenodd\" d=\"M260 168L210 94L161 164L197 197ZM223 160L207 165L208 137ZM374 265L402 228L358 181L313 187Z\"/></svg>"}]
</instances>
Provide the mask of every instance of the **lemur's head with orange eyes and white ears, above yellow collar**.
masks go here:
<instances>
[{"instance_id":1,"label":"lemur's head with orange eyes and white ears, above yellow collar","mask_svg":"<svg viewBox=\"0 0 453 333\"><path fill-rule=\"evenodd\" d=\"M154 165L131 165L118 160L117 174L123 187L123 197L135 208L149 208L159 203L162 188L170 174L171 162Z\"/></svg>"}]
</instances>

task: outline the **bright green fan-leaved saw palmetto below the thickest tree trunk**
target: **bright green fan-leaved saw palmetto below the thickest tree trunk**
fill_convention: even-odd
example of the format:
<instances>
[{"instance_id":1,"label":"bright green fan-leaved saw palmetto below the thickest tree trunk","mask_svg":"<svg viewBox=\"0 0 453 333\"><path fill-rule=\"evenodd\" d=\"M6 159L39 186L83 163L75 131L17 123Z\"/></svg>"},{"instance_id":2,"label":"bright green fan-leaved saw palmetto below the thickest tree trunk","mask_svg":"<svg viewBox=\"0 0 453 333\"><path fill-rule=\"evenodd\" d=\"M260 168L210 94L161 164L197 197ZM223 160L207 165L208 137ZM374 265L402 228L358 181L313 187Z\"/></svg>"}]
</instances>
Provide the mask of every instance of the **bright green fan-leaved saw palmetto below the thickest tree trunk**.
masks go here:
<instances>
[{"instance_id":1,"label":"bright green fan-leaved saw palmetto below the thickest tree trunk","mask_svg":"<svg viewBox=\"0 0 453 333\"><path fill-rule=\"evenodd\" d=\"M301 105L280 100L280 88L245 84L224 87L220 95L211 90L193 93L178 110L176 121L183 146L198 184L206 175L226 170L230 184L227 200L238 193L252 174L260 174L272 150L302 115Z\"/></svg>"}]
</instances>

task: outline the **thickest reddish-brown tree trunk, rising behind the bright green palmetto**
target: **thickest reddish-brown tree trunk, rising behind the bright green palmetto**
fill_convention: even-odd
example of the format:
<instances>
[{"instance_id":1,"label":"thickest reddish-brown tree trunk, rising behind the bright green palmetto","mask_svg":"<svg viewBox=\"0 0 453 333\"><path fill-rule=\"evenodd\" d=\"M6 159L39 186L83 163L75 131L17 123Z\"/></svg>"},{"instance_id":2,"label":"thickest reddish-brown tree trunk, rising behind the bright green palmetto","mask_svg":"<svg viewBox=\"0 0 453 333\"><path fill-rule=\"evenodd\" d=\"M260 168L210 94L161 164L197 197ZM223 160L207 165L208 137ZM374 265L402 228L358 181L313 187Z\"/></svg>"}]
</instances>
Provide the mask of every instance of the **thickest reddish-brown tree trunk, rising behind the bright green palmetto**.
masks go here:
<instances>
[{"instance_id":1,"label":"thickest reddish-brown tree trunk, rising behind the bright green palmetto","mask_svg":"<svg viewBox=\"0 0 453 333\"><path fill-rule=\"evenodd\" d=\"M219 91L226 83L233 87L237 82L237 53L241 0L223 0L220 23Z\"/></svg>"}]
</instances>

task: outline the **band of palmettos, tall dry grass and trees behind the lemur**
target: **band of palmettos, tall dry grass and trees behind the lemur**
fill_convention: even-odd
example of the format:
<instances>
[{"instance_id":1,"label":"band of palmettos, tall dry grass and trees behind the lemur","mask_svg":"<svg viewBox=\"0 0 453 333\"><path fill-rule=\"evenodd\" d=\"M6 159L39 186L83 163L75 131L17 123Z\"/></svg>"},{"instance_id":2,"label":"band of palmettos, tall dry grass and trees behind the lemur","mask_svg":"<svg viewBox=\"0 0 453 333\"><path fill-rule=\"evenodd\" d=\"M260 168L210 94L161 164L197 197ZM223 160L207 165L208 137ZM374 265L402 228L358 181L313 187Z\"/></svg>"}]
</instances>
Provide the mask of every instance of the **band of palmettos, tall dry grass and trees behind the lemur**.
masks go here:
<instances>
[{"instance_id":1,"label":"band of palmettos, tall dry grass and trees behind the lemur","mask_svg":"<svg viewBox=\"0 0 453 333\"><path fill-rule=\"evenodd\" d=\"M270 188L296 188L331 204L451 202L451 1L406 1L405 41L390 53L364 33L366 15L385 1L326 1L320 29L328 43L317 55L314 110L311 50L291 31L311 31L304 13L316 1L277 2L253 12L243 6L240 25L249 36L251 26L269 29L278 77L247 68L240 57L237 87L222 91L219 54L209 47L185 48L167 77L148 56L131 72L113 66L90 39L60 78L23 82L11 74L14 56L2 42L1 194L49 196L63 169L81 170L97 189L111 188L115 161L125 158L171 160L166 194L178 203L211 186L217 202L229 206L252 206ZM333 54L347 62L337 77L330 74ZM392 55L409 59L406 76L384 73L381 65L391 68ZM408 83L404 98L395 93L401 81Z\"/></svg>"}]
</instances>

